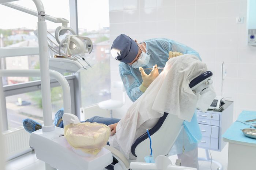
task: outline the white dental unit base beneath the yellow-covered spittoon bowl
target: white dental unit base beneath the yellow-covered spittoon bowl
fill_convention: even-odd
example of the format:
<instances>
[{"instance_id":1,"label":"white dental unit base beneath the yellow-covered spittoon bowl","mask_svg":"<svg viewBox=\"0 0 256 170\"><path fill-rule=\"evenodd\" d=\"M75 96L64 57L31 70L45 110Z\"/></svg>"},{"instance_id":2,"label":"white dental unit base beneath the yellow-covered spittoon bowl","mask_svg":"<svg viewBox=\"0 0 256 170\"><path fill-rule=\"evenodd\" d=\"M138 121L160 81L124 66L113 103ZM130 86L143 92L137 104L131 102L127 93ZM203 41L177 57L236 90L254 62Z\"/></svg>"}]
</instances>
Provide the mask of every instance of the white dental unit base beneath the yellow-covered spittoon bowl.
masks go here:
<instances>
[{"instance_id":1,"label":"white dental unit base beneath the yellow-covered spittoon bowl","mask_svg":"<svg viewBox=\"0 0 256 170\"><path fill-rule=\"evenodd\" d=\"M76 154L61 134L64 134L64 129L60 127L50 132L40 129L31 133L29 146L35 149L37 159L59 170L103 170L112 163L112 154L105 148L95 157Z\"/></svg>"}]
</instances>

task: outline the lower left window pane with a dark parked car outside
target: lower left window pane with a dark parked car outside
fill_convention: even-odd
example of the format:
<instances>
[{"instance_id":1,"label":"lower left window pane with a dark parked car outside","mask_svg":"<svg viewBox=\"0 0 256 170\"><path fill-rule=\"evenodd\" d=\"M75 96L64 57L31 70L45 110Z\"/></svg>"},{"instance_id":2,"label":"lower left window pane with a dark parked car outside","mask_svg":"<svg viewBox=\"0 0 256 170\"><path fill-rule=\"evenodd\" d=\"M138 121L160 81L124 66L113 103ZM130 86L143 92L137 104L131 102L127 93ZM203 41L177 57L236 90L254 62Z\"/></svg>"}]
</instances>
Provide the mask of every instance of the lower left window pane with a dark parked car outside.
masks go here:
<instances>
[{"instance_id":1,"label":"lower left window pane with a dark parked car outside","mask_svg":"<svg viewBox=\"0 0 256 170\"><path fill-rule=\"evenodd\" d=\"M51 89L52 97L52 116L57 110L63 107L63 93L61 87ZM31 118L36 121L43 120L42 95L41 90L7 96L7 118L8 128L22 126L22 120Z\"/></svg>"}]
</instances>

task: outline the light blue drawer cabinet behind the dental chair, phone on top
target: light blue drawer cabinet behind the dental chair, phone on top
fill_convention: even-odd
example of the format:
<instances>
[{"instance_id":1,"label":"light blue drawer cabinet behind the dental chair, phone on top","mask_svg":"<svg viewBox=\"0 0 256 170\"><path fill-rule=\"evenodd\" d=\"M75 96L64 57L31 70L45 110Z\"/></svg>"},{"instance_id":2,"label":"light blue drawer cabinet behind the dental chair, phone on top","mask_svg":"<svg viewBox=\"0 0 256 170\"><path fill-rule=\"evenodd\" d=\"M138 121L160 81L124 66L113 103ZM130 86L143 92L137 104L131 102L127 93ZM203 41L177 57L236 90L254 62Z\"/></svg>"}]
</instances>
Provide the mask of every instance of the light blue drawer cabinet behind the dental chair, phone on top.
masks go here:
<instances>
[{"instance_id":1,"label":"light blue drawer cabinet behind the dental chair, phone on top","mask_svg":"<svg viewBox=\"0 0 256 170\"><path fill-rule=\"evenodd\" d=\"M221 110L207 110L205 113L196 110L197 121L203 135L198 147L210 149L211 139L211 150L221 151L223 149L227 142L223 141L221 135L233 123L233 107L233 101L225 101Z\"/></svg>"}]
</instances>

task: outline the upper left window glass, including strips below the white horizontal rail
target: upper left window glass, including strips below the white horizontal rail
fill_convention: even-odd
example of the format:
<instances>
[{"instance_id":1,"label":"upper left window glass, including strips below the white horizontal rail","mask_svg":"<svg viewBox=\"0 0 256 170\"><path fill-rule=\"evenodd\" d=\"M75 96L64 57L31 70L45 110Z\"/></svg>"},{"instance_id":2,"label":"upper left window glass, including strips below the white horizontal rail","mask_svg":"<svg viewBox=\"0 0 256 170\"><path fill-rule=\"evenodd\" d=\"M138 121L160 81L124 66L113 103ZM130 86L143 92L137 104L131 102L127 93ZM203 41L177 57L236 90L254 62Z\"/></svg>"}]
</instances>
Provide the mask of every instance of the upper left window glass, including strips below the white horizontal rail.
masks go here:
<instances>
[{"instance_id":1,"label":"upper left window glass, including strips below the white horizontal rail","mask_svg":"<svg viewBox=\"0 0 256 170\"><path fill-rule=\"evenodd\" d=\"M15 1L14 4L36 11L33 1ZM70 19L69 0L43 1L47 15L53 17L63 17ZM62 10L56 10L60 6ZM13 17L15 16L15 17ZM0 48L1 47L37 47L38 39L34 35L37 29L38 18L25 12L0 5ZM47 29L54 35L54 31L60 24L47 21ZM21 56L4 58L2 61L2 69L39 69L39 56ZM29 77L8 77L3 78L3 85L26 83L39 78Z\"/></svg>"}]
</instances>

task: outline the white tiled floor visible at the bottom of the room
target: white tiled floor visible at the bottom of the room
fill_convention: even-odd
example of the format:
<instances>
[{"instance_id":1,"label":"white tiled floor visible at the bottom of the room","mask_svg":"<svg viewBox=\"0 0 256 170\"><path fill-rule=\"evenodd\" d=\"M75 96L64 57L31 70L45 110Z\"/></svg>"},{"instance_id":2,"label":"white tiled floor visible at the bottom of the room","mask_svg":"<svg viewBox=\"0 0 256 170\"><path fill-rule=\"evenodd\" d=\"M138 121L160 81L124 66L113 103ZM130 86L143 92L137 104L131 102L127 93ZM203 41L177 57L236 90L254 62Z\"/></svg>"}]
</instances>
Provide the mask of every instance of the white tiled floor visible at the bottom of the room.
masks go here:
<instances>
[{"instance_id":1,"label":"white tiled floor visible at the bottom of the room","mask_svg":"<svg viewBox=\"0 0 256 170\"><path fill-rule=\"evenodd\" d=\"M223 148L221 152L211 151L212 158L220 162L223 166L223 170L227 170L227 155L228 144ZM205 151L198 149L198 156L205 157ZM173 163L176 162L177 156L169 157ZM211 162L199 161L200 170L211 170ZM212 170L217 170L218 166L212 163ZM5 170L45 170L45 163L38 160L34 153L27 153L18 158L8 161Z\"/></svg>"}]
</instances>

